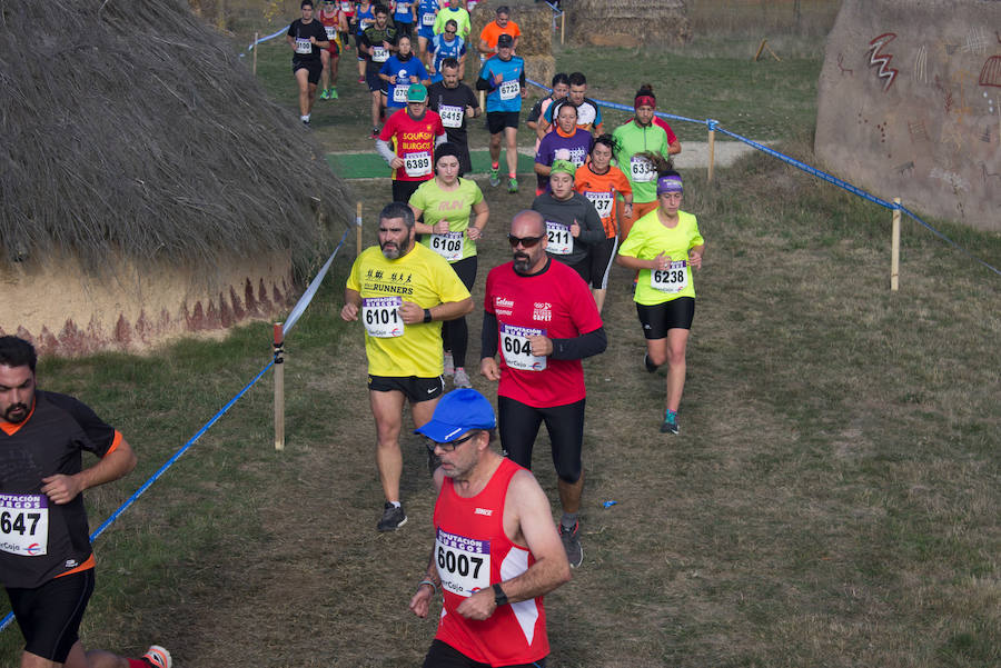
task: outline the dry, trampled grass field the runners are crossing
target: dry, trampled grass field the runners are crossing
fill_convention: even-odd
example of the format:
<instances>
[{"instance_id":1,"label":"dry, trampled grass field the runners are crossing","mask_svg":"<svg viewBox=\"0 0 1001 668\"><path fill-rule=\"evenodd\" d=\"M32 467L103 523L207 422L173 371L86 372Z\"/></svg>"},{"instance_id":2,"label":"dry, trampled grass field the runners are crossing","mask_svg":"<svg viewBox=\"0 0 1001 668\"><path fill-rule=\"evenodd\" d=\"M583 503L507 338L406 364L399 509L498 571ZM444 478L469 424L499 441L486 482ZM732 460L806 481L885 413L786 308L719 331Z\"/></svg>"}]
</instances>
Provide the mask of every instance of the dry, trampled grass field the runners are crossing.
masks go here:
<instances>
[{"instance_id":1,"label":"dry, trampled grass field the runners are crossing","mask_svg":"<svg viewBox=\"0 0 1001 668\"><path fill-rule=\"evenodd\" d=\"M587 57L567 50L558 62L593 72L595 97L634 90L614 78L630 52ZM644 53L634 66L691 77L688 94L663 107L782 140L811 162L819 58L780 70ZM260 66L262 91L295 122L287 54ZM370 146L364 93L346 83L314 121L331 151ZM891 293L889 212L764 157L718 170L712 186L703 171L684 177L683 208L707 251L682 435L657 432L664 378L642 371L616 269L608 350L585 365L585 561L547 598L549 666L1001 665L998 277L905 221ZM508 259L505 223L531 202L484 188L480 277ZM356 190L371 243L389 185ZM998 235L941 225L1001 265ZM178 668L420 664L434 620L406 605L434 492L423 445L405 440L410 521L375 531L361 333L337 317L354 250L289 338L286 450L272 447L269 373L99 539L88 646L135 655L156 641ZM474 298L482 289L480 278ZM268 362L269 341L259 323L143 358L43 360L41 386L92 405L140 457L127 480L88 492L93 526ZM555 498L547 449L543 435L535 472ZM0 635L0 666L17 665L19 644L17 630Z\"/></svg>"}]
</instances>

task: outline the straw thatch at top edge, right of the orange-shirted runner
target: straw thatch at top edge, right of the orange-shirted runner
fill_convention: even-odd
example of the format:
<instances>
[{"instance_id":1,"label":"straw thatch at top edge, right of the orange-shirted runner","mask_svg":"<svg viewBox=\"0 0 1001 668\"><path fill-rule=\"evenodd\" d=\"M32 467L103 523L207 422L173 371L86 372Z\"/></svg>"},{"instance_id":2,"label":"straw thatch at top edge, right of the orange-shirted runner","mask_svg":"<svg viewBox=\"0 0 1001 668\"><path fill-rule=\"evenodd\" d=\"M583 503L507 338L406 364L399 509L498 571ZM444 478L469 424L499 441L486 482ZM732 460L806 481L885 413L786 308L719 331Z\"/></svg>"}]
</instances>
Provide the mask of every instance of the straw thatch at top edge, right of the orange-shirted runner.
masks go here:
<instances>
[{"instance_id":1,"label":"straw thatch at top edge, right of the orange-shirted runner","mask_svg":"<svg viewBox=\"0 0 1001 668\"><path fill-rule=\"evenodd\" d=\"M683 44L692 38L684 0L574 0L564 2L567 39L576 44Z\"/></svg>"}]
</instances>

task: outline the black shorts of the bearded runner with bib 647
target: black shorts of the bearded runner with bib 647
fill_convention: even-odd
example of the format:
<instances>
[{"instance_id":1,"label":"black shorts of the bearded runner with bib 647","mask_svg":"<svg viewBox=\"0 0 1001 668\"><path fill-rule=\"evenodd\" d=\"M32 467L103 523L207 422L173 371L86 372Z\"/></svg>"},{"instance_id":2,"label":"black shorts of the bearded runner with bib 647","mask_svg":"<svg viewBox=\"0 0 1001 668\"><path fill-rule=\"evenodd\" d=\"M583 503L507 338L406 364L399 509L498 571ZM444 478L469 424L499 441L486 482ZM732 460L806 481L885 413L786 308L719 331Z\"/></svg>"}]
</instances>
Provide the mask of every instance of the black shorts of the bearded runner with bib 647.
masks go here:
<instances>
[{"instance_id":1,"label":"black shorts of the bearded runner with bib 647","mask_svg":"<svg viewBox=\"0 0 1001 668\"><path fill-rule=\"evenodd\" d=\"M52 578L41 587L10 587L7 596L24 636L24 650L65 664L80 639L80 620L93 594L93 569Z\"/></svg>"}]
</instances>

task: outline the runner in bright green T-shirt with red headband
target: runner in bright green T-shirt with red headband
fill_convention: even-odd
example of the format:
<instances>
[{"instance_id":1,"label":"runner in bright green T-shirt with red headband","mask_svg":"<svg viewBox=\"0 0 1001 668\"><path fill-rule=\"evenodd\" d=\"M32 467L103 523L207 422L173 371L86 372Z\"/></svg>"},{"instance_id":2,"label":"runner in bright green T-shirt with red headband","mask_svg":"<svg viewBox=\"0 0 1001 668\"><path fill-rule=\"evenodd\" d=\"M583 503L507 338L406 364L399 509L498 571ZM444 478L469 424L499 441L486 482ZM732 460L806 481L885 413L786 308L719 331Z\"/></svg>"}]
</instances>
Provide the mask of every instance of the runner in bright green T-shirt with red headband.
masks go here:
<instances>
[{"instance_id":1,"label":"runner in bright green T-shirt with red headband","mask_svg":"<svg viewBox=\"0 0 1001 668\"><path fill-rule=\"evenodd\" d=\"M657 172L651 161L657 156L671 157L671 143L663 128L652 123L656 100L648 88L641 88L633 102L636 113L630 122L618 126L612 133L615 140L615 162L630 178L633 186L633 212L625 215L620 227L620 239L625 241L633 222L657 208ZM681 150L678 144L677 150Z\"/></svg>"}]
</instances>

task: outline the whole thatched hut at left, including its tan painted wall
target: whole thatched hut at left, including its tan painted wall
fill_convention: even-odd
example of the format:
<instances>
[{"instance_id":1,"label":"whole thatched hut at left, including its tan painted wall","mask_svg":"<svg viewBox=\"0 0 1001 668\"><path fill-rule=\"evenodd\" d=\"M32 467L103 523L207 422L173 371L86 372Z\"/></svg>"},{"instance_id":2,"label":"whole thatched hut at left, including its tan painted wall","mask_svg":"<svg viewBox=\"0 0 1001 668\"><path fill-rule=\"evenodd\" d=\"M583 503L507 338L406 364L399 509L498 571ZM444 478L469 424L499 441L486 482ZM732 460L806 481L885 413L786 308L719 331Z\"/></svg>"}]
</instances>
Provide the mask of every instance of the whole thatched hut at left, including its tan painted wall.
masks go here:
<instances>
[{"instance_id":1,"label":"whole thatched hut at left, including its tan painted wall","mask_svg":"<svg viewBox=\"0 0 1001 668\"><path fill-rule=\"evenodd\" d=\"M3 3L0 87L0 332L43 350L270 317L318 220L349 223L308 130L185 0Z\"/></svg>"}]
</instances>

